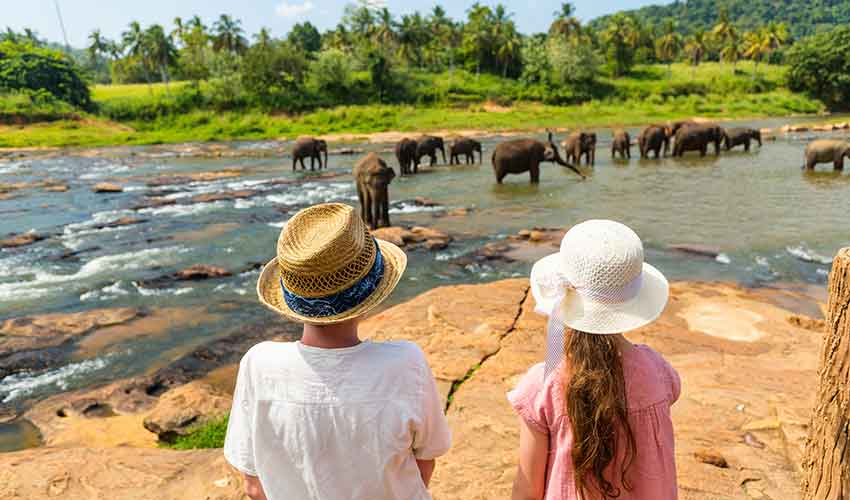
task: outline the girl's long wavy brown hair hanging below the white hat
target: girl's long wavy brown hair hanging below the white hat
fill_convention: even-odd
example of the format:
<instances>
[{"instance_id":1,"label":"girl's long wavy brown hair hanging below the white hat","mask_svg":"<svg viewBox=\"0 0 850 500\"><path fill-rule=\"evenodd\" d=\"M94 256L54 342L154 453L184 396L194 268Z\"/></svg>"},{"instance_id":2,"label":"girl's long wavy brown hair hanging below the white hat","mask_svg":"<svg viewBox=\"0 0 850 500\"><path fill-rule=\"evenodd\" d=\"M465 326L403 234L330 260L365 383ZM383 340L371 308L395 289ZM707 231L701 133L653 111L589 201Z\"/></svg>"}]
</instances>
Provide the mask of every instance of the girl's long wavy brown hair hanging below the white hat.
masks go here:
<instances>
[{"instance_id":1,"label":"girl's long wavy brown hair hanging below the white hat","mask_svg":"<svg viewBox=\"0 0 850 500\"><path fill-rule=\"evenodd\" d=\"M617 498L622 489L632 489L626 473L637 453L620 351L612 336L572 330L565 335L564 353L576 490L584 498L594 498L594 490L603 498ZM605 469L620 456L621 446L621 477L606 478Z\"/></svg>"}]
</instances>

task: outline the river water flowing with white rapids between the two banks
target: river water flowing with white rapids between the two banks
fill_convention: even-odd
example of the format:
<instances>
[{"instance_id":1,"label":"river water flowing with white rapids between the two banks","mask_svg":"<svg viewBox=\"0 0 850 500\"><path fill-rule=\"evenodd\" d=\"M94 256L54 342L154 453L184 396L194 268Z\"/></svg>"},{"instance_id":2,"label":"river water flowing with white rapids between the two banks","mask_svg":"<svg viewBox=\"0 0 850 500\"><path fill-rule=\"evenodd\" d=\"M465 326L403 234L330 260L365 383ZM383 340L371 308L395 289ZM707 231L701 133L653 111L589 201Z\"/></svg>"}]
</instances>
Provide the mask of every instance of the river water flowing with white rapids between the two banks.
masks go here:
<instances>
[{"instance_id":1,"label":"river water flowing with white rapids between the two banks","mask_svg":"<svg viewBox=\"0 0 850 500\"><path fill-rule=\"evenodd\" d=\"M778 127L788 120L751 122ZM637 130L631 130L633 137ZM526 176L496 185L489 164L500 138L484 141L484 164L424 169L391 186L393 222L428 225L457 240L446 250L411 254L410 268L393 301L453 283L521 276L528 264L455 266L452 259L482 244L534 226L564 227L589 218L625 222L643 238L647 258L671 279L732 280L748 286L822 286L830 258L850 244L850 173L831 165L803 172L807 134L779 136L751 153L720 157L639 160L610 158L610 133L600 131L596 167L580 181L544 164L538 186ZM837 133L837 136L842 134ZM272 142L241 143L251 150ZM352 144L380 151L394 165L388 144ZM359 155L331 155L329 172L345 174ZM161 176L241 169L238 177L150 186ZM254 295L257 263L273 257L283 223L298 209L324 201L355 204L347 175L312 179L291 171L291 159L184 158L168 148L133 148L110 158L67 156L0 162L0 183L65 183L67 192L25 189L0 201L0 234L35 231L44 241L0 250L0 321L23 315L130 306L158 311L136 330L68 347L67 364L0 380L0 401L21 401L149 372L189 350L246 325L274 321ZM302 182L283 184L280 180ZM94 194L98 182L117 182L123 193ZM191 197L252 190L246 199L188 203ZM146 196L176 205L134 210ZM416 206L424 196L438 207ZM439 217L445 209L473 209L466 217ZM98 226L121 217L145 222ZM693 244L719 249L700 258L669 249ZM75 259L56 260L67 252ZM205 263L234 272L230 278L146 286L145 280ZM141 330L141 331L139 331ZM8 429L5 431L9 433ZM3 445L3 448L14 445Z\"/></svg>"}]
</instances>

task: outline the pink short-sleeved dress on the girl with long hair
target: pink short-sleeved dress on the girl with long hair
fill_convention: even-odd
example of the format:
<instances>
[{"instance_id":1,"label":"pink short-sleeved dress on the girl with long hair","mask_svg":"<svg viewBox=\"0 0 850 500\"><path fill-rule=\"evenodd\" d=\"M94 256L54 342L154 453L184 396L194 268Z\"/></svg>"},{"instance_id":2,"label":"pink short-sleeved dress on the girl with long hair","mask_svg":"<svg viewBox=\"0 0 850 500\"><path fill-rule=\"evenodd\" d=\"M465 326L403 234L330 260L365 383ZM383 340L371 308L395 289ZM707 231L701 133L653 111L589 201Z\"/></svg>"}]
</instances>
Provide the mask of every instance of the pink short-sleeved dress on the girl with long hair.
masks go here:
<instances>
[{"instance_id":1,"label":"pink short-sleeved dress on the girl with long hair","mask_svg":"<svg viewBox=\"0 0 850 500\"><path fill-rule=\"evenodd\" d=\"M681 382L676 370L645 345L623 354L629 425L637 456L627 478L632 489L621 487L621 460L609 466L605 477L620 487L619 499L670 500L677 498L676 460L670 406L679 399ZM545 500L580 500L575 489L569 415L566 414L563 372L559 368L543 381L543 363L531 367L508 393L508 400L529 426L549 436L549 464ZM623 448L620 447L622 450ZM601 498L601 495L598 495ZM590 499L581 499L590 500ZM594 498L595 500L595 498Z\"/></svg>"}]
</instances>

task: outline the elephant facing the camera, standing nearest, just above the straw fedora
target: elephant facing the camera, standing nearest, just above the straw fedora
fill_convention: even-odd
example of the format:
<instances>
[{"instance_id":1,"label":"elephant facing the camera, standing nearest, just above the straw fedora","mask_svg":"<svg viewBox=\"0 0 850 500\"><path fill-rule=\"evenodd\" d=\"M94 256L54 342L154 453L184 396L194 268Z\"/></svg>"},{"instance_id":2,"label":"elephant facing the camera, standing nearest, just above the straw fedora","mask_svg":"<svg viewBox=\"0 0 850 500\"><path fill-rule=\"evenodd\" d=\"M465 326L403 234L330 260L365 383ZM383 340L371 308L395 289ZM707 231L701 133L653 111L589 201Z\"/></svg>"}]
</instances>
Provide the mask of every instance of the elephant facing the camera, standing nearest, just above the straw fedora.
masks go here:
<instances>
[{"instance_id":1,"label":"elephant facing the camera, standing nearest, just above the straw fedora","mask_svg":"<svg viewBox=\"0 0 850 500\"><path fill-rule=\"evenodd\" d=\"M395 171L375 153L363 157L352 171L360 200L360 216L372 229L390 226L390 182Z\"/></svg>"}]
</instances>

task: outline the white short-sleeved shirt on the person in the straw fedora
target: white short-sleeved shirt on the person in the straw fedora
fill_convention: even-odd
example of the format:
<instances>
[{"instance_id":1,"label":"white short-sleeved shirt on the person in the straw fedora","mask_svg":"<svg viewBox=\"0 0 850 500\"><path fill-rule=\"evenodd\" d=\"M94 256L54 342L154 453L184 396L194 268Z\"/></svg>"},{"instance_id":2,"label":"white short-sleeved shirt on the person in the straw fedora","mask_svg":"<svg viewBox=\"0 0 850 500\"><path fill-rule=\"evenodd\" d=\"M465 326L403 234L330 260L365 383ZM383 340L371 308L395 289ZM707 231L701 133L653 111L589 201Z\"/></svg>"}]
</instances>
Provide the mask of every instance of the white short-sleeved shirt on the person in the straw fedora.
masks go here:
<instances>
[{"instance_id":1,"label":"white short-sleeved shirt on the person in the straw fedora","mask_svg":"<svg viewBox=\"0 0 850 500\"><path fill-rule=\"evenodd\" d=\"M263 342L242 358L224 456L269 500L427 500L416 459L451 432L411 342Z\"/></svg>"}]
</instances>

